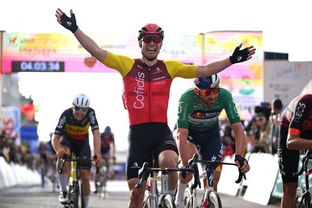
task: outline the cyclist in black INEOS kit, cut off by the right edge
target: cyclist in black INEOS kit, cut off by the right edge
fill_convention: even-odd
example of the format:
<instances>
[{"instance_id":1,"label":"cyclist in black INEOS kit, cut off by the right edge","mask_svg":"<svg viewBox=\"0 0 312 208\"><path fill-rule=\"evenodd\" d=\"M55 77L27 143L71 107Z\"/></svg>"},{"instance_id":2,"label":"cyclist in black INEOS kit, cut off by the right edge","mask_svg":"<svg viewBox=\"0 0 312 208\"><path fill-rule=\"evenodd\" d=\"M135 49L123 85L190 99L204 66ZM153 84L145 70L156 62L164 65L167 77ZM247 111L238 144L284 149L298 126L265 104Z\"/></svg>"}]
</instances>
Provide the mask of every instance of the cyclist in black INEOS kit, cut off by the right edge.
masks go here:
<instances>
[{"instance_id":1,"label":"cyclist in black INEOS kit, cut off by the right edge","mask_svg":"<svg viewBox=\"0 0 312 208\"><path fill-rule=\"evenodd\" d=\"M302 94L288 104L279 119L277 157L283 180L282 208L295 207L300 150L312 149L312 94Z\"/></svg>"}]
</instances>

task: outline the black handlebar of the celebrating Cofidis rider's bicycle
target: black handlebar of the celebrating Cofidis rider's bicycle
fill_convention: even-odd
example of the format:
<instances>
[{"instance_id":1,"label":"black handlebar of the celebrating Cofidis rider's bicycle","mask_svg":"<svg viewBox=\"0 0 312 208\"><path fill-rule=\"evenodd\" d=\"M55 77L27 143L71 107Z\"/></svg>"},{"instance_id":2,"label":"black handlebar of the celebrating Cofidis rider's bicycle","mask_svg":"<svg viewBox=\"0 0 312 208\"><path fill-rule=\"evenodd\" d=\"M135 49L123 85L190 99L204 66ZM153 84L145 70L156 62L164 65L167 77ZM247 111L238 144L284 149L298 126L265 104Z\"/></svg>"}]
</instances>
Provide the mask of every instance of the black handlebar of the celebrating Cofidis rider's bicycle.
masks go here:
<instances>
[{"instance_id":1,"label":"black handlebar of the celebrating Cofidis rider's bicycle","mask_svg":"<svg viewBox=\"0 0 312 208\"><path fill-rule=\"evenodd\" d=\"M191 160L190 160L191 161ZM143 184L143 180L147 180L148 176L152 172L159 172L161 171L164 174L170 173L170 172L190 172L194 175L194 184L192 184L192 189L196 189L196 187L201 187L200 180L199 180L199 174L198 174L198 166L196 163L189 163L189 167L186 168L148 168L148 162L144 162L143 166L138 171L138 182L135 187L137 189L140 189Z\"/></svg>"}]
</instances>

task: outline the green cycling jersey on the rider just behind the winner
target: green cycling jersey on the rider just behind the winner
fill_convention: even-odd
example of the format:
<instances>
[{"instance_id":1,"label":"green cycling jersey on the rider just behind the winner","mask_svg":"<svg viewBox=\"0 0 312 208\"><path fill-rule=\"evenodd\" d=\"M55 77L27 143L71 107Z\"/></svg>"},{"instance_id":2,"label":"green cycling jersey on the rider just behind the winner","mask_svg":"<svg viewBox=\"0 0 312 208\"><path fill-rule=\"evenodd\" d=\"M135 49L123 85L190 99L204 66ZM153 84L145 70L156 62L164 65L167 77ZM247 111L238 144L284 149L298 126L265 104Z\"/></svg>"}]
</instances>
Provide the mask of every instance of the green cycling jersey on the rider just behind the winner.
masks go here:
<instances>
[{"instance_id":1,"label":"green cycling jersey on the rider just behind the winner","mask_svg":"<svg viewBox=\"0 0 312 208\"><path fill-rule=\"evenodd\" d=\"M229 123L241 121L232 94L227 89L220 88L216 103L211 106L202 104L193 88L187 89L180 97L177 128L190 128L198 131L209 130L218 123L218 116L223 109L227 114Z\"/></svg>"}]
</instances>

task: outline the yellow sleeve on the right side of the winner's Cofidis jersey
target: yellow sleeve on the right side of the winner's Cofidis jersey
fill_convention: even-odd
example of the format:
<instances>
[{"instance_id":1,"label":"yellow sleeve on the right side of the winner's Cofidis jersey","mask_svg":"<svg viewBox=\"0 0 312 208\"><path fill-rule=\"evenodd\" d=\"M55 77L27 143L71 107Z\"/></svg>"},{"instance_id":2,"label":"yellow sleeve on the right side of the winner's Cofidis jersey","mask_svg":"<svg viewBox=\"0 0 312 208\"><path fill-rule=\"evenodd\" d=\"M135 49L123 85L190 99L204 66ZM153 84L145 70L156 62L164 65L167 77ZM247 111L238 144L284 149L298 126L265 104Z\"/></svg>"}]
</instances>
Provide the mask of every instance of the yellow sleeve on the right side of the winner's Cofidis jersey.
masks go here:
<instances>
[{"instance_id":1,"label":"yellow sleeve on the right side of the winner's Cofidis jersey","mask_svg":"<svg viewBox=\"0 0 312 208\"><path fill-rule=\"evenodd\" d=\"M198 67L196 65L187 65L175 60L164 61L164 64L166 64L171 78L196 78L196 70Z\"/></svg>"}]
</instances>

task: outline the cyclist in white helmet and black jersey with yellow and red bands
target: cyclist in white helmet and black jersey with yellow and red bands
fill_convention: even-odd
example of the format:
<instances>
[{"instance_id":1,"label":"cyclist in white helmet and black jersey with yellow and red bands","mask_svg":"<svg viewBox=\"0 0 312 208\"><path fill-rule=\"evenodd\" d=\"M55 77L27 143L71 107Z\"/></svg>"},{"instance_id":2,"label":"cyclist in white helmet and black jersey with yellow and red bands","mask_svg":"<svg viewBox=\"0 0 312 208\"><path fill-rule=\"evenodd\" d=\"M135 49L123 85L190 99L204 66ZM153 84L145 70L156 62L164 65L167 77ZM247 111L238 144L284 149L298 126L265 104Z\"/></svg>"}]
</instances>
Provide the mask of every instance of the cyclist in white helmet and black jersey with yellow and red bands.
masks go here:
<instances>
[{"instance_id":1,"label":"cyclist in white helmet and black jersey with yellow and red bands","mask_svg":"<svg viewBox=\"0 0 312 208\"><path fill-rule=\"evenodd\" d=\"M73 106L62 112L58 125L55 128L52 139L53 148L58 155L57 170L60 169L60 159L69 156L71 152L77 157L91 158L91 148L89 146L89 128L92 130L94 138L94 155L96 155L96 166L102 165L100 153L100 132L98 121L92 107L89 107L90 100L85 94L78 94L73 99ZM69 162L66 162L62 173L58 173L60 182L59 201L62 204L68 202L67 184L69 176ZM89 205L90 197L90 170L91 162L81 162L81 179L83 181L83 199L85 208Z\"/></svg>"}]
</instances>

